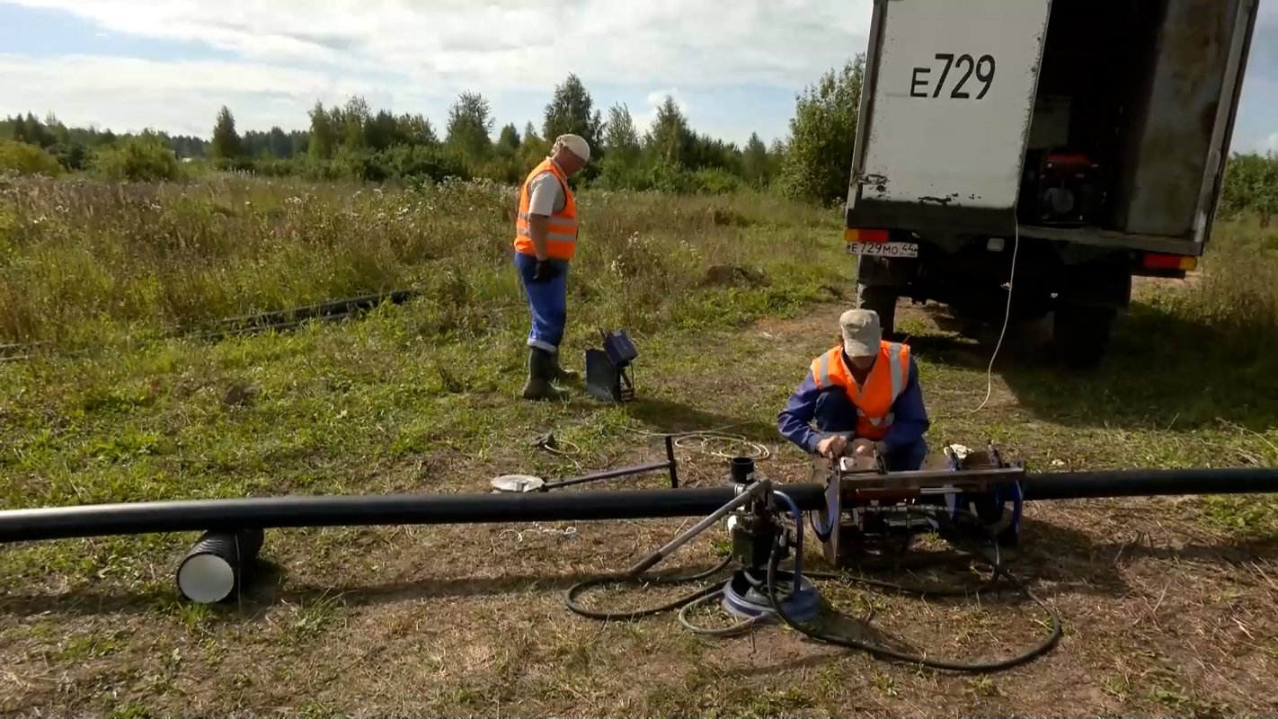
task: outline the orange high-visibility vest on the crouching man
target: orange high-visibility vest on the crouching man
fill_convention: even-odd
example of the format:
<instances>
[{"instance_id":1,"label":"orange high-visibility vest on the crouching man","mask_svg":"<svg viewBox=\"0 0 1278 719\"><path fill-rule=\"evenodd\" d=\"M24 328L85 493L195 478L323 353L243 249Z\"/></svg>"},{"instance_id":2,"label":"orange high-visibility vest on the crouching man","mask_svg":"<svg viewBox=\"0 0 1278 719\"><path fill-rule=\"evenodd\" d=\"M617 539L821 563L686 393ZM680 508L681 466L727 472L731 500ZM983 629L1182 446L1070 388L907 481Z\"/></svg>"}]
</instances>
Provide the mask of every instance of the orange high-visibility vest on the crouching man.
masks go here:
<instances>
[{"instance_id":1,"label":"orange high-visibility vest on the crouching man","mask_svg":"<svg viewBox=\"0 0 1278 719\"><path fill-rule=\"evenodd\" d=\"M856 435L878 442L892 427L892 405L905 391L910 375L910 347L900 342L879 342L878 359L860 388L843 363L843 347L836 346L812 360L817 387L840 387L856 406Z\"/></svg>"}]
</instances>

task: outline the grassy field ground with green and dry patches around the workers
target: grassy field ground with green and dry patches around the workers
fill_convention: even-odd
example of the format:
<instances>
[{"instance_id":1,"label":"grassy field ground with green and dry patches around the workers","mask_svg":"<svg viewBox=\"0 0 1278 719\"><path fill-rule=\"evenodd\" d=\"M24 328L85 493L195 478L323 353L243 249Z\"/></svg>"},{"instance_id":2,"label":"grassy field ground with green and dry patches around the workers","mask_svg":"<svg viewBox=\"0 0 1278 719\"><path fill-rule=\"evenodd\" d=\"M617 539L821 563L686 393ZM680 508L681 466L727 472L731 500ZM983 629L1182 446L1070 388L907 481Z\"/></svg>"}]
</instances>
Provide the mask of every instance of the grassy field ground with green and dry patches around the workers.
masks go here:
<instances>
[{"instance_id":1,"label":"grassy field ground with green and dry patches around the workers","mask_svg":"<svg viewBox=\"0 0 1278 719\"><path fill-rule=\"evenodd\" d=\"M483 492L497 474L617 466L657 456L654 433L716 428L767 446L769 476L808 480L774 415L851 299L837 213L763 194L588 194L565 359L580 368L596 327L626 328L639 400L532 405L514 398L527 313L506 189L222 179L0 193L0 345L29 355L0 363L5 507ZM1045 470L1278 465L1275 255L1274 230L1223 222L1201 275L1140 285L1093 375L1058 370L1039 328L1013 328L980 411L992 341L902 309L929 439L992 438ZM294 332L181 333L399 287L422 294ZM566 455L534 446L544 432ZM689 484L721 481L722 458L698 446L680 458ZM603 624L562 607L578 579L690 522L272 531L275 570L231 607L175 598L190 535L6 547L0 714L1206 715L1278 702L1269 498L1030 507L1016 566L1066 637L982 677L780 628L707 640L671 616ZM709 566L721 540L667 568ZM993 596L822 591L864 636L939 655L1006 655L1044 631L1031 607Z\"/></svg>"}]
</instances>

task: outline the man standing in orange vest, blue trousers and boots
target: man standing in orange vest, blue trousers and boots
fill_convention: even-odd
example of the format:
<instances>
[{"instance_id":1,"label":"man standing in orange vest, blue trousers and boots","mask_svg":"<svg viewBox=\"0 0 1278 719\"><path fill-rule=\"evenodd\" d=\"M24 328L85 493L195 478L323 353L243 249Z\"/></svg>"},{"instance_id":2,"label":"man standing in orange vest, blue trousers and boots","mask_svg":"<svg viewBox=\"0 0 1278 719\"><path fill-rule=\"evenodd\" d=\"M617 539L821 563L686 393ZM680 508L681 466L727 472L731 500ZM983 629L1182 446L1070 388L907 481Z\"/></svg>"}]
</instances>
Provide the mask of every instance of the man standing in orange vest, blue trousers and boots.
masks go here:
<instances>
[{"instance_id":1,"label":"man standing in orange vest, blue trousers and boots","mask_svg":"<svg viewBox=\"0 0 1278 719\"><path fill-rule=\"evenodd\" d=\"M567 321L567 268L576 252L576 199L567 179L589 160L590 146L580 135L560 135L519 190L515 268L533 318L525 400L562 400L565 392L553 382L576 378L558 361Z\"/></svg>"}]
</instances>

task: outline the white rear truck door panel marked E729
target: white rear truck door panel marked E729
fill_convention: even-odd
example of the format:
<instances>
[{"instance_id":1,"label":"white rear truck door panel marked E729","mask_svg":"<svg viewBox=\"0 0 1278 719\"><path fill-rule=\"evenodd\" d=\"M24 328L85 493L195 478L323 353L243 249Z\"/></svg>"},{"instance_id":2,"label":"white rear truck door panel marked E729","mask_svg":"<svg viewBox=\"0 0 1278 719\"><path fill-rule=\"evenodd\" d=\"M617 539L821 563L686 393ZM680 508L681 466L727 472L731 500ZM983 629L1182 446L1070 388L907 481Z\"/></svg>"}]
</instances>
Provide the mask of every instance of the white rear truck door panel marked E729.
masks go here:
<instances>
[{"instance_id":1,"label":"white rear truck door panel marked E729","mask_svg":"<svg viewBox=\"0 0 1278 719\"><path fill-rule=\"evenodd\" d=\"M1052 0L874 3L850 227L1013 231L1051 6ZM855 250L916 253L902 244Z\"/></svg>"}]
</instances>

